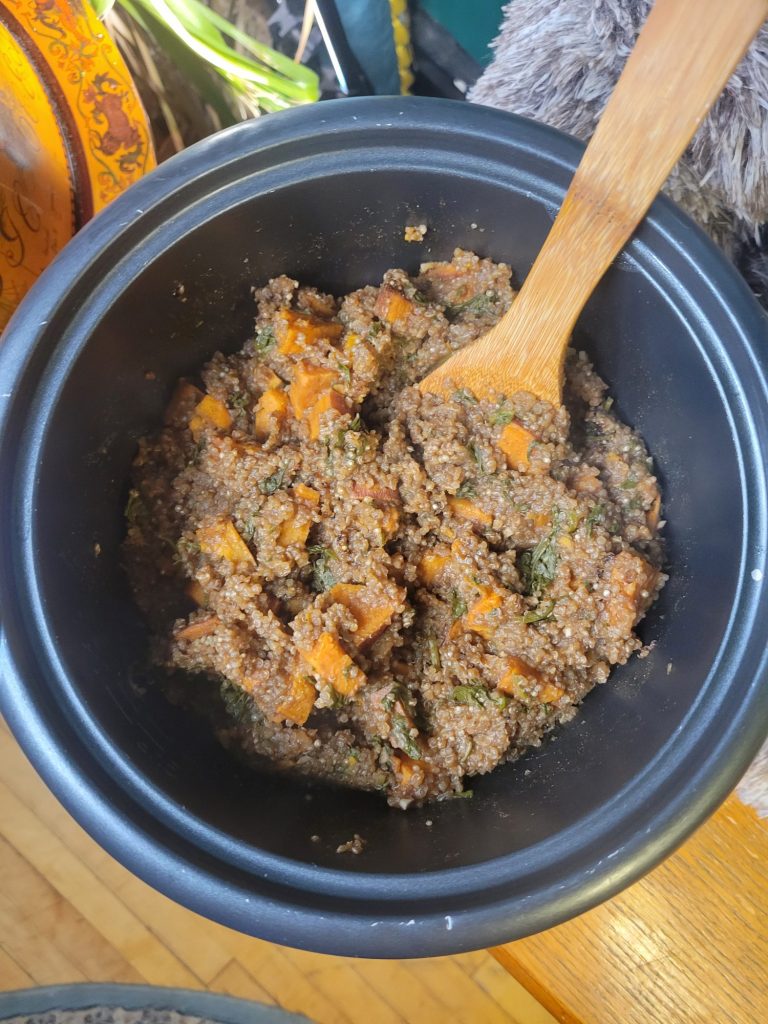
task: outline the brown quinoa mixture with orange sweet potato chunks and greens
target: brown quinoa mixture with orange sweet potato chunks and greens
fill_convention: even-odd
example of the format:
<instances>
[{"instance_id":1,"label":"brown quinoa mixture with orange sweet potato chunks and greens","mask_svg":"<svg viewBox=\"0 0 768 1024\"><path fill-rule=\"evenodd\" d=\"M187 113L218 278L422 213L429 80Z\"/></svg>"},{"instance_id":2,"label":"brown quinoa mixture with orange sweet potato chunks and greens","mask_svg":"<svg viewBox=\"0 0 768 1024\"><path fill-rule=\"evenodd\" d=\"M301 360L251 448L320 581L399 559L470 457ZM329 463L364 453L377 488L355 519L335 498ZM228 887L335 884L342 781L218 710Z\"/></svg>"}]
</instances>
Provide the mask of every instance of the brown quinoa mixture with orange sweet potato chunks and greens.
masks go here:
<instances>
[{"instance_id":1,"label":"brown quinoa mixture with orange sweet potato chunks and greens","mask_svg":"<svg viewBox=\"0 0 768 1024\"><path fill-rule=\"evenodd\" d=\"M461 250L342 299L276 278L140 442L131 584L228 746L395 806L456 797L642 654L660 497L584 353L560 409L416 386L513 295Z\"/></svg>"}]
</instances>

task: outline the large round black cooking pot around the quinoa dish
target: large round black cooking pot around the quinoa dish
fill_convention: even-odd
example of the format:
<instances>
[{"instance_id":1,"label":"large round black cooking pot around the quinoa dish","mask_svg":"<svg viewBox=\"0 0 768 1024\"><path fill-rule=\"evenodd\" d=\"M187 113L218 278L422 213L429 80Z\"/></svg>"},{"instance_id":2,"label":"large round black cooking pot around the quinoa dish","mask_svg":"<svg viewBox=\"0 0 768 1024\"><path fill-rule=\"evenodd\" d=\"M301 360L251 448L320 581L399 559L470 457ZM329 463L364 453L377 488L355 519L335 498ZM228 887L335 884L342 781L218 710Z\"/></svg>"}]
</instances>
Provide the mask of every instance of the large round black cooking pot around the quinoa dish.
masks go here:
<instances>
[{"instance_id":1,"label":"large round black cooking pot around the quinoa dish","mask_svg":"<svg viewBox=\"0 0 768 1024\"><path fill-rule=\"evenodd\" d=\"M336 953L514 939L657 863L767 731L766 322L666 200L578 339L664 487L671 579L642 627L648 657L617 669L554 741L477 779L474 799L408 813L245 770L147 682L120 565L129 466L175 379L248 336L251 286L287 272L341 293L457 245L519 280L581 152L440 100L340 100L244 124L113 203L8 329L2 708L78 820L195 910ZM422 245L403 242L408 221L428 225ZM337 854L355 833L365 853Z\"/></svg>"}]
</instances>

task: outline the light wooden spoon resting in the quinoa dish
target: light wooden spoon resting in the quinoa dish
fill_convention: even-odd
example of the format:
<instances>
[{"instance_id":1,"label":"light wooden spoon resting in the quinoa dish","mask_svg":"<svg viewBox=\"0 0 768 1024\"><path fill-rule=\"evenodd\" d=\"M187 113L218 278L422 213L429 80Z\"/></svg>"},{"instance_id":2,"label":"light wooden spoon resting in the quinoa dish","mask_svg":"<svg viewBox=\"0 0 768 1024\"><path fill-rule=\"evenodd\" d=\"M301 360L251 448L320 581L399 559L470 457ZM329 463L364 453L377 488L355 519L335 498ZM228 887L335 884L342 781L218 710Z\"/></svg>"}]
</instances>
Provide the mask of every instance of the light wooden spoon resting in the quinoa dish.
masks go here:
<instances>
[{"instance_id":1,"label":"light wooden spoon resting in the quinoa dish","mask_svg":"<svg viewBox=\"0 0 768 1024\"><path fill-rule=\"evenodd\" d=\"M422 391L560 403L577 317L766 17L768 0L656 0L511 308Z\"/></svg>"}]
</instances>

